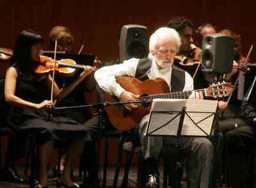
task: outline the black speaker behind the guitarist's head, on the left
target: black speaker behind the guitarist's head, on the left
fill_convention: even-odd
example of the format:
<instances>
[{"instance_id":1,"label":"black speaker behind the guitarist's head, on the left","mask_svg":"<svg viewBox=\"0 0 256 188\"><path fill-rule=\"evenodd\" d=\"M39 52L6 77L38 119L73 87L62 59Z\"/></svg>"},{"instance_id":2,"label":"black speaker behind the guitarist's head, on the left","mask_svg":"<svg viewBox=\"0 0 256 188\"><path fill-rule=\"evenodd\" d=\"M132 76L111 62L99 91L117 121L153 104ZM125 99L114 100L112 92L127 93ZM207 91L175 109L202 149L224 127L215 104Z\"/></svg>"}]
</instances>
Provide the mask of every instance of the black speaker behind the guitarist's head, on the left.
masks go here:
<instances>
[{"instance_id":1,"label":"black speaker behind the guitarist's head, on the left","mask_svg":"<svg viewBox=\"0 0 256 188\"><path fill-rule=\"evenodd\" d=\"M148 30L145 26L125 25L120 34L120 60L147 57Z\"/></svg>"}]
</instances>

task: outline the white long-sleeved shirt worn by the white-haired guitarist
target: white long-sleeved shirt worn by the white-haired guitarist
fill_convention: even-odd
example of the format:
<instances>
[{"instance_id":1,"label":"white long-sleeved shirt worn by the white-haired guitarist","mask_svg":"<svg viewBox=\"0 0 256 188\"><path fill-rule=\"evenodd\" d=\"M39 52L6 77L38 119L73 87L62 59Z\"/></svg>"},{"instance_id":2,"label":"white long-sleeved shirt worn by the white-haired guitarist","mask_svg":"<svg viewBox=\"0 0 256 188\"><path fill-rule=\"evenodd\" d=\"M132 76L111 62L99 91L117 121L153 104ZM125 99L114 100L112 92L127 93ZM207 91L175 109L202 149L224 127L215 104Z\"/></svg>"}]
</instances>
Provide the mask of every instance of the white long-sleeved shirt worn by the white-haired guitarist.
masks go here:
<instances>
[{"instance_id":1,"label":"white long-sleeved shirt worn by the white-haired guitarist","mask_svg":"<svg viewBox=\"0 0 256 188\"><path fill-rule=\"evenodd\" d=\"M132 58L129 60L125 60L124 63L118 64L118 65L111 65L107 67L102 67L99 70L97 70L94 74L94 77L96 81L98 82L100 88L102 90L109 93L109 95L115 95L119 98L121 93L123 93L125 90L116 82L115 77L121 76L121 75L129 75L134 77L136 74L136 69L138 66L140 59ZM172 68L169 70L159 70L159 68L156 65L156 62L152 61L152 67L147 72L149 79L154 79L155 77L161 77L163 78L170 87L170 81L172 77ZM171 90L171 87L170 87ZM185 72L185 86L183 91L193 90L193 79L188 74L188 72Z\"/></svg>"}]
</instances>

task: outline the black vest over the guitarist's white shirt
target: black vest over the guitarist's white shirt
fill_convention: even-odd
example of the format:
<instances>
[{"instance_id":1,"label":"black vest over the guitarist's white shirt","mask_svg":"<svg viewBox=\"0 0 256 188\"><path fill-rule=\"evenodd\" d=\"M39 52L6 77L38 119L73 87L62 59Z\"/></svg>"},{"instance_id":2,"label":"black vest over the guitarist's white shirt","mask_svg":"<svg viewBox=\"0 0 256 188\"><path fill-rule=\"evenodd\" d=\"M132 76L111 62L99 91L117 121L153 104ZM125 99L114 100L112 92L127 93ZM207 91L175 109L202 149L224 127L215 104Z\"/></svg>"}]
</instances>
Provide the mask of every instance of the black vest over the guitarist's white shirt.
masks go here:
<instances>
[{"instance_id":1,"label":"black vest over the guitarist's white shirt","mask_svg":"<svg viewBox=\"0 0 256 188\"><path fill-rule=\"evenodd\" d=\"M140 81L148 79L147 72L152 67L152 59L140 59L135 77ZM182 91L185 86L185 71L172 65L171 91Z\"/></svg>"}]
</instances>

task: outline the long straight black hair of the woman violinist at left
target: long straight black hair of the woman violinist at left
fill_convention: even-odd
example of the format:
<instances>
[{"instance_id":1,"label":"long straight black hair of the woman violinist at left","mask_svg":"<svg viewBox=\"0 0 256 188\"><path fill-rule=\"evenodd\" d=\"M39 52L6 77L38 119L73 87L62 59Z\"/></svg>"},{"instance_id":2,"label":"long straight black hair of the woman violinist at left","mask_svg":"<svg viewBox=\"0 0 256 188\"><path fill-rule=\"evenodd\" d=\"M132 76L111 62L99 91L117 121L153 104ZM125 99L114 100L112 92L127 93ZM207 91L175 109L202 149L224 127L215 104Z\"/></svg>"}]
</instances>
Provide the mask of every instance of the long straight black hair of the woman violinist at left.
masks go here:
<instances>
[{"instance_id":1,"label":"long straight black hair of the woman violinist at left","mask_svg":"<svg viewBox=\"0 0 256 188\"><path fill-rule=\"evenodd\" d=\"M36 43L43 43L44 39L35 31L26 29L20 32L17 38L15 48L13 51L13 57L11 65L16 67L18 74L22 77L29 77L32 75L32 59L31 59L31 48Z\"/></svg>"}]
</instances>

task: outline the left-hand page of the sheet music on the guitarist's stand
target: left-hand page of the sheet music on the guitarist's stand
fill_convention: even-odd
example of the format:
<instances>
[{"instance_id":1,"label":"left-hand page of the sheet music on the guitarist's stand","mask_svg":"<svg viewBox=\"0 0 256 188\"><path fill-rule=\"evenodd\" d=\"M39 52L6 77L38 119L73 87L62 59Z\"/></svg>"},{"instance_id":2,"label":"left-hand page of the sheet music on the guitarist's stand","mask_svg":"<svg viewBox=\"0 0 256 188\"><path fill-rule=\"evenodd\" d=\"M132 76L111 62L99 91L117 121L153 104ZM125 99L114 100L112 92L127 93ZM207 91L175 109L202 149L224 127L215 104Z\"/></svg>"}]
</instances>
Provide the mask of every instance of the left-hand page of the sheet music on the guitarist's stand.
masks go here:
<instances>
[{"instance_id":1,"label":"left-hand page of the sheet music on the guitarist's stand","mask_svg":"<svg viewBox=\"0 0 256 188\"><path fill-rule=\"evenodd\" d=\"M148 121L148 125L147 125L148 126L147 133L150 133L150 135L152 136L153 135L177 136L180 115L177 116L179 112L177 113L174 113L174 112L182 111L182 107L186 105L186 101L187 100L184 100L184 99L162 99L162 98L154 99L152 103L151 111L150 111L150 114L151 114L150 121ZM174 118L175 116L177 117ZM159 127L161 128L159 129Z\"/></svg>"}]
</instances>

